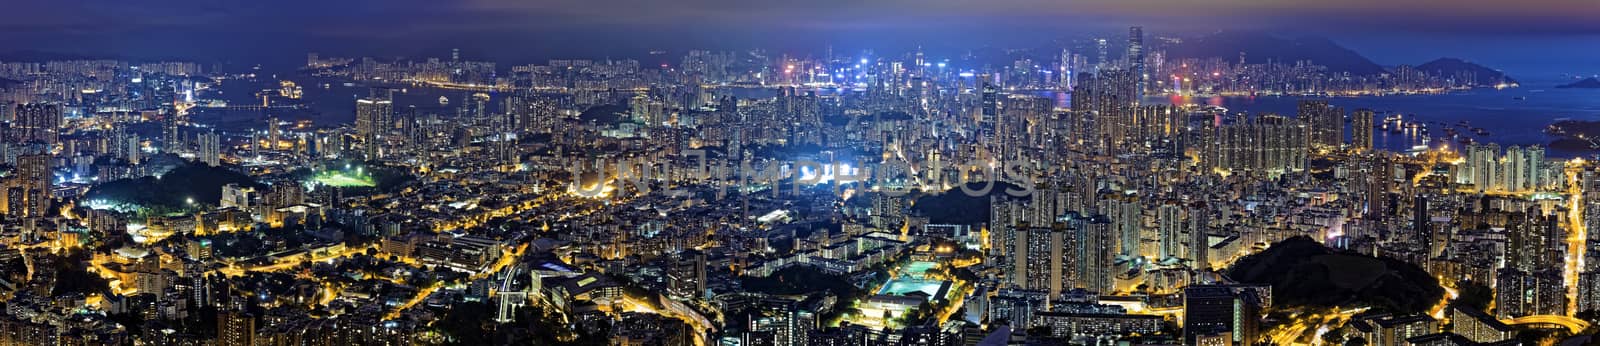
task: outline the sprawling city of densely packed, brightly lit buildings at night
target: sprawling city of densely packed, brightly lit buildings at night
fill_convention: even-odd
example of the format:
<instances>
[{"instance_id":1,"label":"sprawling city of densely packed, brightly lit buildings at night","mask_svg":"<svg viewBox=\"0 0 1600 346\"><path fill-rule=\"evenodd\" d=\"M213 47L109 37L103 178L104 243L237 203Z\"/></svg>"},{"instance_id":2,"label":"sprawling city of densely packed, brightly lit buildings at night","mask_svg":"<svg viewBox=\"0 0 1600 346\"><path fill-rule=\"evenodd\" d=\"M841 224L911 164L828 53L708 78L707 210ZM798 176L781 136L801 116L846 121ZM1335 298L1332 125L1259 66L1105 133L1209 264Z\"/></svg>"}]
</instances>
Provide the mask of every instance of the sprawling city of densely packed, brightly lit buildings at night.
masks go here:
<instances>
[{"instance_id":1,"label":"sprawling city of densely packed, brightly lit buildings at night","mask_svg":"<svg viewBox=\"0 0 1600 346\"><path fill-rule=\"evenodd\" d=\"M1378 114L1330 99L1283 115L1150 104L1253 86L1214 85L1224 70L1173 86L1163 74L1190 67L1141 27L1120 59L1085 43L1002 67L920 50L509 74L459 51L307 56L315 77L398 86L354 99L350 123L290 120L280 109L322 90L254 74L214 80L285 99L205 123L197 109L224 106L197 106L216 93L170 77L186 66L139 82L56 66L149 93L6 112L0 264L29 271L0 272L0 296L19 296L0 344L90 327L152 344L1256 344L1283 341L1275 324L1421 344L1600 309L1600 261L1568 266L1600 253L1584 251L1600 248L1592 165L1536 146L1395 154L1374 146ZM1227 72L1318 74L1280 67ZM234 181L150 210L83 197L184 165ZM1494 308L1450 311L1453 330L1443 311L1267 319L1299 306L1227 268L1286 239L1485 285ZM120 328L134 322L160 328Z\"/></svg>"}]
</instances>

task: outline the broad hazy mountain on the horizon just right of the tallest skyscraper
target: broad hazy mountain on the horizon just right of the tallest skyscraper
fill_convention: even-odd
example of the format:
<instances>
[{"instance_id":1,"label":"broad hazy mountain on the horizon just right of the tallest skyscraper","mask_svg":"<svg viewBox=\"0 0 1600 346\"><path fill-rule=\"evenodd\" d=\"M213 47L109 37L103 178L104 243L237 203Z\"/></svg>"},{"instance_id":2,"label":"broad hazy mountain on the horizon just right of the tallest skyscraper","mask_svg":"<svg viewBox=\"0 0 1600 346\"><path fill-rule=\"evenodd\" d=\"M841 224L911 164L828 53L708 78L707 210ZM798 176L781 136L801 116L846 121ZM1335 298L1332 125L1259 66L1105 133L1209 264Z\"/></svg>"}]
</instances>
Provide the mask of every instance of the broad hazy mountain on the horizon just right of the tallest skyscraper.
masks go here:
<instances>
[{"instance_id":1,"label":"broad hazy mountain on the horizon just right of the tallest skyscraper","mask_svg":"<svg viewBox=\"0 0 1600 346\"><path fill-rule=\"evenodd\" d=\"M1245 53L1246 64L1262 64L1269 59L1285 64L1312 61L1314 64L1326 66L1333 72L1350 72L1354 75L1386 72L1382 66L1366 59L1366 56L1322 37L1278 38L1254 32L1219 32L1184 40L1166 48L1170 58L1222 58L1226 61L1238 61L1238 53Z\"/></svg>"}]
</instances>

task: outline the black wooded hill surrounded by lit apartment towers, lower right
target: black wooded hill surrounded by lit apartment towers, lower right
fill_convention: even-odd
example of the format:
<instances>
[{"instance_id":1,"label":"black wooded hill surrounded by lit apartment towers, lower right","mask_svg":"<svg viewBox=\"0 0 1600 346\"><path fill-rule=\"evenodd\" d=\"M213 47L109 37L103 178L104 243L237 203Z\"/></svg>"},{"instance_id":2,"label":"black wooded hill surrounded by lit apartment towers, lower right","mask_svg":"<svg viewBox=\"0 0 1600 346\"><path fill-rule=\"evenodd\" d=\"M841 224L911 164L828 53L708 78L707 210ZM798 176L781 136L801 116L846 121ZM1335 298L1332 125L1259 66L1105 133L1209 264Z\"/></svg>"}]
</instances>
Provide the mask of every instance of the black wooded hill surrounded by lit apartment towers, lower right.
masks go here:
<instances>
[{"instance_id":1,"label":"black wooded hill surrounded by lit apartment towers, lower right","mask_svg":"<svg viewBox=\"0 0 1600 346\"><path fill-rule=\"evenodd\" d=\"M1336 251L1304 235L1240 258L1227 276L1272 285L1274 304L1283 306L1371 306L1411 314L1426 312L1445 295L1438 280L1416 264Z\"/></svg>"}]
</instances>

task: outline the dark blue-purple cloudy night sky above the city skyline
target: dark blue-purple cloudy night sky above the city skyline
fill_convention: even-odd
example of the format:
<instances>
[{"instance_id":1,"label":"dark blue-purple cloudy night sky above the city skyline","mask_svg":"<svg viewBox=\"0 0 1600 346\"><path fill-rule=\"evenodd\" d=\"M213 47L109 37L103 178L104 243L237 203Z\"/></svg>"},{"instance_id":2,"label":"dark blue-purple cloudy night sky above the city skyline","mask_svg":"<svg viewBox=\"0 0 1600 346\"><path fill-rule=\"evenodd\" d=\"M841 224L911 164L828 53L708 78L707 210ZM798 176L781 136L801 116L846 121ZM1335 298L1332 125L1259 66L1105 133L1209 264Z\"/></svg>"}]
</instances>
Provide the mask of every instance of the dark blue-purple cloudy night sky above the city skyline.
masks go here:
<instances>
[{"instance_id":1,"label":"dark blue-purple cloudy night sky above the city skyline","mask_svg":"<svg viewBox=\"0 0 1600 346\"><path fill-rule=\"evenodd\" d=\"M1514 74L1600 74L1595 0L21 0L0 51L254 62L462 48L506 62L646 50L1045 46L1062 38L1267 30L1379 64L1438 56Z\"/></svg>"}]
</instances>

